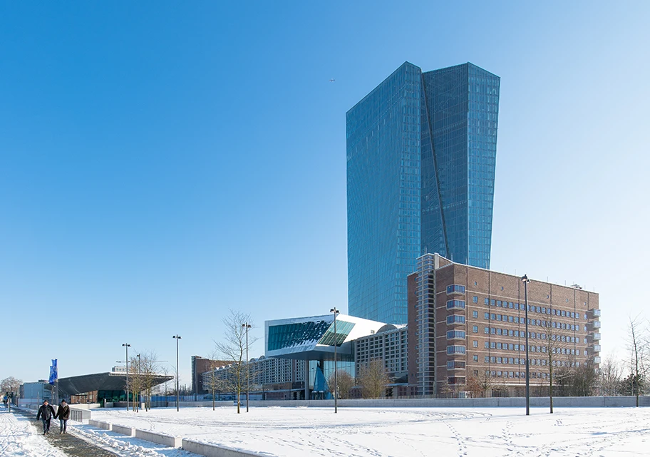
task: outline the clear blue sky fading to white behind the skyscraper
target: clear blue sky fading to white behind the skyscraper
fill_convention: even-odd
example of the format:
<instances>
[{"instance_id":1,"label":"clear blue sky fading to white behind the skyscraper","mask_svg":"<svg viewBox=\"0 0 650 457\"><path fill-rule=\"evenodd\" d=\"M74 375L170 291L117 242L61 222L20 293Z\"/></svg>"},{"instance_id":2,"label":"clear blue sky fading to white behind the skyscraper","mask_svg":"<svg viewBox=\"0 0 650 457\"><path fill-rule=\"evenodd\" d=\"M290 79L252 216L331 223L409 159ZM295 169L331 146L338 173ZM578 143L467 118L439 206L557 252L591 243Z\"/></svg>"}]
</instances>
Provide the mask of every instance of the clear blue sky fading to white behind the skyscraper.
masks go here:
<instances>
[{"instance_id":1,"label":"clear blue sky fading to white behind the skyscraper","mask_svg":"<svg viewBox=\"0 0 650 457\"><path fill-rule=\"evenodd\" d=\"M650 3L0 1L0 378L175 360L229 308L345 310L345 113L403 61L501 76L492 269L645 312ZM329 79L335 78L334 83ZM170 363L171 365L171 363Z\"/></svg>"}]
</instances>

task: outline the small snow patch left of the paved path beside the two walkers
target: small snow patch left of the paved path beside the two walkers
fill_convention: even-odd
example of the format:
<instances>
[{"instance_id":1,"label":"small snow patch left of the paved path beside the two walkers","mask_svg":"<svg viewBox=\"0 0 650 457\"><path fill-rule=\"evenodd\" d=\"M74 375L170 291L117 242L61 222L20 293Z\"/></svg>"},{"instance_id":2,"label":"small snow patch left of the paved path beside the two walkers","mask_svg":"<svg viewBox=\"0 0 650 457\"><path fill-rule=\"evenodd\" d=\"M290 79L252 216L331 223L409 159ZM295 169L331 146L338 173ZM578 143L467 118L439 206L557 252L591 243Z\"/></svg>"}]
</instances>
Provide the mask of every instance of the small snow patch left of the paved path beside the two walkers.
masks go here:
<instances>
[{"instance_id":1,"label":"small snow patch left of the paved path beside the two walkers","mask_svg":"<svg viewBox=\"0 0 650 457\"><path fill-rule=\"evenodd\" d=\"M0 456L66 457L42 433L43 429L34 426L33 421L0 410Z\"/></svg>"}]
</instances>

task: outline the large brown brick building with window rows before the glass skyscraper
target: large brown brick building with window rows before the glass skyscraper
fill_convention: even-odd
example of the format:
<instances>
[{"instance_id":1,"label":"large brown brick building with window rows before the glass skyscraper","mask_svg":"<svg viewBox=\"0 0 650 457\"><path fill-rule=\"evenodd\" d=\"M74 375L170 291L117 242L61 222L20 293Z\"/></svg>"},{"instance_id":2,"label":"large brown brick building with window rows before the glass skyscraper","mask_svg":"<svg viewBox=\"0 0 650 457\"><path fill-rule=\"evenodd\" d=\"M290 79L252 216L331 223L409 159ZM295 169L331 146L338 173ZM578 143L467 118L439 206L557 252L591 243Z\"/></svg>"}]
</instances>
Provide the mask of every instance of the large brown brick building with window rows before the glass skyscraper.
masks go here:
<instances>
[{"instance_id":1,"label":"large brown brick building with window rows before the glass skyscraper","mask_svg":"<svg viewBox=\"0 0 650 457\"><path fill-rule=\"evenodd\" d=\"M598 369L598 294L531 280L528 306L531 385L548 383L550 365ZM521 394L522 278L440 255L419 257L417 271L408 276L408 341L413 394L468 391L470 385L483 386L485 394Z\"/></svg>"}]
</instances>

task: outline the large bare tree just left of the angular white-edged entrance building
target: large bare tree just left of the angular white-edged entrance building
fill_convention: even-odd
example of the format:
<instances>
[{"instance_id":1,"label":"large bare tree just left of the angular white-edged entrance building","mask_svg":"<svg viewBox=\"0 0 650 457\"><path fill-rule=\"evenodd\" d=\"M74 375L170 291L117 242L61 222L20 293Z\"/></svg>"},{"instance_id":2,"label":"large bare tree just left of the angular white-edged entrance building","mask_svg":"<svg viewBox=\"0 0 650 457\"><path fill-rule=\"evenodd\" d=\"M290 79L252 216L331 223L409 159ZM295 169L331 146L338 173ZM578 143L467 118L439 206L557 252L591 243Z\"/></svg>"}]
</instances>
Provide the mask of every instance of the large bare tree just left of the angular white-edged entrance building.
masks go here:
<instances>
[{"instance_id":1,"label":"large bare tree just left of the angular white-edged entrance building","mask_svg":"<svg viewBox=\"0 0 650 457\"><path fill-rule=\"evenodd\" d=\"M251 324L250 314L230 310L229 314L223 319L225 326L223 341L215 342L217 353L221 359L231 360L230 368L232 376L226 380L227 388L237 396L237 414L241 412L240 397L249 382L251 376L249 364L246 358L247 341L246 325ZM248 336L248 345L250 346L256 338Z\"/></svg>"}]
</instances>

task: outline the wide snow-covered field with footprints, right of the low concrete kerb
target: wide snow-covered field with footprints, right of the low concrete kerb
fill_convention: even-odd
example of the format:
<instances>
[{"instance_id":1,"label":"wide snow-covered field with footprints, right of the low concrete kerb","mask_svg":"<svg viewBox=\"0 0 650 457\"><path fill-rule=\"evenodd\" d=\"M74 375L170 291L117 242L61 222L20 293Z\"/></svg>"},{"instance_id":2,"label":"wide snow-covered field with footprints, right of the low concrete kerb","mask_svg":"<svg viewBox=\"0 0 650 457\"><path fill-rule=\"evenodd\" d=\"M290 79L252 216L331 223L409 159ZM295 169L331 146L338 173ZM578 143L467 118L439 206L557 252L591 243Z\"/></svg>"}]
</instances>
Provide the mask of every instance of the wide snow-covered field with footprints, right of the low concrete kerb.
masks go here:
<instances>
[{"instance_id":1,"label":"wide snow-covered field with footprints, right of the low concrete kerb","mask_svg":"<svg viewBox=\"0 0 650 457\"><path fill-rule=\"evenodd\" d=\"M93 419L279 457L650 456L644 408L536 408L530 416L522 408L100 409Z\"/></svg>"}]
</instances>

